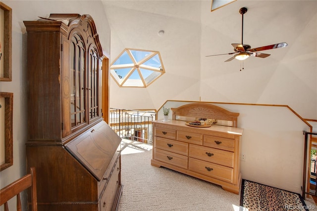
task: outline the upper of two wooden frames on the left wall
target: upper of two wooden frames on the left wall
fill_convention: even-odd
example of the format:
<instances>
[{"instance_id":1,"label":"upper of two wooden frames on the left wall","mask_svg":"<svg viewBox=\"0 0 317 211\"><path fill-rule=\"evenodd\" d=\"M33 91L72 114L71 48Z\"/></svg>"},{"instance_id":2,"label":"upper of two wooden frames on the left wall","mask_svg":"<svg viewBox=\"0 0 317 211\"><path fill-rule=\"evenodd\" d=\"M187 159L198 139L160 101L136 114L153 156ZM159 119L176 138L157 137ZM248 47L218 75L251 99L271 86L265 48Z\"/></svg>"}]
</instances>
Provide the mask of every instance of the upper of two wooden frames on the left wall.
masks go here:
<instances>
[{"instance_id":1,"label":"upper of two wooden frames on the left wall","mask_svg":"<svg viewBox=\"0 0 317 211\"><path fill-rule=\"evenodd\" d=\"M12 81L12 9L0 2L0 81Z\"/></svg>"}]
</instances>

